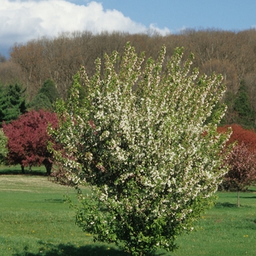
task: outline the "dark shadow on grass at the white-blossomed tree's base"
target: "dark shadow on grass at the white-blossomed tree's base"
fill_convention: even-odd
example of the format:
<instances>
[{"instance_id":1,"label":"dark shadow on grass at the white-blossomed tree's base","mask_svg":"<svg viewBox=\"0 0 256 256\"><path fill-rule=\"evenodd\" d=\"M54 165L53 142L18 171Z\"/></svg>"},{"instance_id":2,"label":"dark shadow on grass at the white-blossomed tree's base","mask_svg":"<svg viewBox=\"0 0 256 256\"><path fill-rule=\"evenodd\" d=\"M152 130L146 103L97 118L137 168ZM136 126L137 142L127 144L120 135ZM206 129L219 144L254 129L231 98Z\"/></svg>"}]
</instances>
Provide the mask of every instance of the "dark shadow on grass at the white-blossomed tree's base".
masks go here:
<instances>
[{"instance_id":1,"label":"dark shadow on grass at the white-blossomed tree's base","mask_svg":"<svg viewBox=\"0 0 256 256\"><path fill-rule=\"evenodd\" d=\"M49 244L44 246L42 241L39 241L41 247L39 252L28 252L29 248L24 247L23 252L17 252L12 256L129 256L128 252L123 252L119 249L110 248L108 246L85 245L74 246L73 244L59 244L57 246ZM165 255L163 253L153 254L151 256Z\"/></svg>"}]
</instances>

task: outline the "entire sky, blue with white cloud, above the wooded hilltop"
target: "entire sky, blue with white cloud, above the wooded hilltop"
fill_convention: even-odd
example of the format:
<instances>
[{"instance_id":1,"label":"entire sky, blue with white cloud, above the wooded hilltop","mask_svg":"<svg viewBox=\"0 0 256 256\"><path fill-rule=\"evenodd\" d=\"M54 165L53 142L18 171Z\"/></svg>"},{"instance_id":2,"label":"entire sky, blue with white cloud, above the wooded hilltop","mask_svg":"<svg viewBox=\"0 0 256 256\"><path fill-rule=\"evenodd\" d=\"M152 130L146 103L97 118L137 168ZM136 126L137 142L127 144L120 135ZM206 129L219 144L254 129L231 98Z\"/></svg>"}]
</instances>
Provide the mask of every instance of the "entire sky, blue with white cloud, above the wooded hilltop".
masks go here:
<instances>
[{"instance_id":1,"label":"entire sky, blue with white cloud, above the wooded hilltop","mask_svg":"<svg viewBox=\"0 0 256 256\"><path fill-rule=\"evenodd\" d=\"M0 53L15 42L89 30L178 33L256 28L256 0L1 0Z\"/></svg>"}]
</instances>

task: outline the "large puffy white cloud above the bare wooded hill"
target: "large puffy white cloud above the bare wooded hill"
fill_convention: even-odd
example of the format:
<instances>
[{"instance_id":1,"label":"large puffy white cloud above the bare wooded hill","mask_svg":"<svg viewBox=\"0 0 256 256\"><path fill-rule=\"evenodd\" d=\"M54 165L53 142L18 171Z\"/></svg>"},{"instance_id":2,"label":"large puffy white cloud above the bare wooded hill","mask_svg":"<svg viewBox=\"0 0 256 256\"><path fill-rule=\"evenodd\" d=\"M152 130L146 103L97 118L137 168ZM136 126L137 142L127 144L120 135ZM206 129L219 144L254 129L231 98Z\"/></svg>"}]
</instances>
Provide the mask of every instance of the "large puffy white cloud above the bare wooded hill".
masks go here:
<instances>
[{"instance_id":1,"label":"large puffy white cloud above the bare wooded hill","mask_svg":"<svg viewBox=\"0 0 256 256\"><path fill-rule=\"evenodd\" d=\"M62 31L128 31L140 33L148 28L125 17L118 10L103 10L96 1L75 4L75 0L1 0L0 44L13 45L42 36L56 36ZM168 29L158 29L166 34Z\"/></svg>"}]
</instances>

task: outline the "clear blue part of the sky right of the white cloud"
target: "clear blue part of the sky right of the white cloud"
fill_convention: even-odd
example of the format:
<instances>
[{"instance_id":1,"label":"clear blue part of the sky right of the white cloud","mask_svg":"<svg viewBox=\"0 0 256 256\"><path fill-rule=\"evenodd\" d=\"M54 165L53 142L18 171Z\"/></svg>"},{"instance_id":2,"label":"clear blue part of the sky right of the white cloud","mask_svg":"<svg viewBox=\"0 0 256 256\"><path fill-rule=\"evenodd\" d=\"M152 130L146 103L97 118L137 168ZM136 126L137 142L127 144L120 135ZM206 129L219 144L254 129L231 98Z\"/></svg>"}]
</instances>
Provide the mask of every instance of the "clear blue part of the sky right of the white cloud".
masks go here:
<instances>
[{"instance_id":1,"label":"clear blue part of the sky right of the white cloud","mask_svg":"<svg viewBox=\"0 0 256 256\"><path fill-rule=\"evenodd\" d=\"M83 4L84 1L76 1ZM171 32L182 28L244 30L256 26L256 0L102 0L138 23Z\"/></svg>"}]
</instances>

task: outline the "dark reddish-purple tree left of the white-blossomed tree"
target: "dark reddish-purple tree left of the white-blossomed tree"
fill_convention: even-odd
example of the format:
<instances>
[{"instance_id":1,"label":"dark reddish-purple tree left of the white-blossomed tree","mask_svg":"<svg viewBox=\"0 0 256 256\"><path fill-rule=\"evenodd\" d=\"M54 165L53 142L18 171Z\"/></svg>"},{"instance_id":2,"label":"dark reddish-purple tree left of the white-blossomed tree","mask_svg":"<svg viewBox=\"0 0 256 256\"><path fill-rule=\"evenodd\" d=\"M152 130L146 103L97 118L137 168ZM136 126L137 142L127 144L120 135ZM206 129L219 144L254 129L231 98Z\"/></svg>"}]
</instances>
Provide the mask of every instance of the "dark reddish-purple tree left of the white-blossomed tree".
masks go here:
<instances>
[{"instance_id":1,"label":"dark reddish-purple tree left of the white-blossomed tree","mask_svg":"<svg viewBox=\"0 0 256 256\"><path fill-rule=\"evenodd\" d=\"M7 136L7 162L10 165L24 167L45 165L50 175L53 166L53 154L48 151L48 125L56 128L58 118L56 113L44 110L30 111L21 115L18 120L4 124L4 134Z\"/></svg>"}]
</instances>

